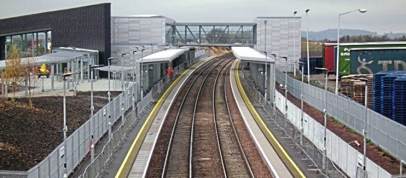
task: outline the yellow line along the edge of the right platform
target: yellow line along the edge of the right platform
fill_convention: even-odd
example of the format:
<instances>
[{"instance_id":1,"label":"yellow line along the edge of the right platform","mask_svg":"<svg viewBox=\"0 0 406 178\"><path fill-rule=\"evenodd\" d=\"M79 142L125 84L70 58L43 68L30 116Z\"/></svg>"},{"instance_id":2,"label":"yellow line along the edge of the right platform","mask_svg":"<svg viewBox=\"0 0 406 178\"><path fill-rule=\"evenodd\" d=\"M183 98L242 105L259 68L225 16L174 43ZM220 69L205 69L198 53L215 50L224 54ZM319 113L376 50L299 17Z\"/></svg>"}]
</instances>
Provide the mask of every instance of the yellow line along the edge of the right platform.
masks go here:
<instances>
[{"instance_id":1,"label":"yellow line along the edge of the right platform","mask_svg":"<svg viewBox=\"0 0 406 178\"><path fill-rule=\"evenodd\" d=\"M269 131L268 127L265 125L262 118L256 112L253 104L251 103L250 99L247 96L247 93L245 92L245 90L241 84L240 76L238 75L239 66L240 66L240 61L237 62L236 66L234 68L237 86L238 86L238 89L240 90L240 94L243 97L245 104L247 105L248 109L250 110L251 115L254 117L256 124L261 129L261 131L265 135L265 137L268 139L269 143L272 145L273 149L276 151L278 156L282 159L285 166L288 168L289 172L291 172L291 174L295 178L305 178L305 175L303 174L303 172L299 169L299 167L291 159L291 157L288 155L288 153L285 151L285 149L282 147L282 145L279 143L279 141L275 138L275 136Z\"/></svg>"}]
</instances>

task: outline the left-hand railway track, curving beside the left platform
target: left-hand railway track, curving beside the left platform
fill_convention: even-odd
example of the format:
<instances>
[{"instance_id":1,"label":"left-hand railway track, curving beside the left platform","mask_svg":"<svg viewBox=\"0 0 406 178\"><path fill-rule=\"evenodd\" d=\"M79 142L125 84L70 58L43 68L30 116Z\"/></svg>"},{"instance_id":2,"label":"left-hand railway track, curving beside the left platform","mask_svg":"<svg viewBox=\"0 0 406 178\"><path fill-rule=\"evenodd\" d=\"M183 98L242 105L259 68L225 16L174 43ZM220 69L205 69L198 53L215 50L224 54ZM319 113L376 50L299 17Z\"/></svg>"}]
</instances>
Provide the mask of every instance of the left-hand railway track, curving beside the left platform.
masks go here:
<instances>
[{"instance_id":1,"label":"left-hand railway track, curving beside the left platform","mask_svg":"<svg viewBox=\"0 0 406 178\"><path fill-rule=\"evenodd\" d=\"M162 170L162 178L186 178L192 177L192 151L193 151L193 133L196 106L203 83L210 72L224 60L232 55L224 55L206 65L203 70L198 72L191 82L183 97L180 108L176 115L175 124L170 136L168 149Z\"/></svg>"}]
</instances>

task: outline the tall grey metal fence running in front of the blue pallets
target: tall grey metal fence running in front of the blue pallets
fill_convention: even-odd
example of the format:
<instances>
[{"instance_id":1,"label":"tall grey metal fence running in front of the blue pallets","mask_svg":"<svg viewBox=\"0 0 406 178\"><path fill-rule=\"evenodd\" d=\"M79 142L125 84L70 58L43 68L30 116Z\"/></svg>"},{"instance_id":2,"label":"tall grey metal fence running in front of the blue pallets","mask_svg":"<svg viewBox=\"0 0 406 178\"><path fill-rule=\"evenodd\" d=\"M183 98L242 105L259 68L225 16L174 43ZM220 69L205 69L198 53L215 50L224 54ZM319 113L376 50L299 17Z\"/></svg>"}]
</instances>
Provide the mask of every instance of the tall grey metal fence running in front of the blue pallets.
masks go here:
<instances>
[{"instance_id":1,"label":"tall grey metal fence running in front of the blue pallets","mask_svg":"<svg viewBox=\"0 0 406 178\"><path fill-rule=\"evenodd\" d=\"M276 81L285 85L285 74L277 70ZM288 92L296 98L300 98L301 81L288 76L287 84ZM323 110L323 103L327 99L328 115L355 130L358 134L362 134L365 122L365 106L331 92L328 92L327 98L325 98L324 89L307 84L303 86L303 95L304 102L318 110ZM369 108L367 108L366 116L367 138L397 159L406 160L406 150L404 149L406 148L406 127Z\"/></svg>"}]
</instances>

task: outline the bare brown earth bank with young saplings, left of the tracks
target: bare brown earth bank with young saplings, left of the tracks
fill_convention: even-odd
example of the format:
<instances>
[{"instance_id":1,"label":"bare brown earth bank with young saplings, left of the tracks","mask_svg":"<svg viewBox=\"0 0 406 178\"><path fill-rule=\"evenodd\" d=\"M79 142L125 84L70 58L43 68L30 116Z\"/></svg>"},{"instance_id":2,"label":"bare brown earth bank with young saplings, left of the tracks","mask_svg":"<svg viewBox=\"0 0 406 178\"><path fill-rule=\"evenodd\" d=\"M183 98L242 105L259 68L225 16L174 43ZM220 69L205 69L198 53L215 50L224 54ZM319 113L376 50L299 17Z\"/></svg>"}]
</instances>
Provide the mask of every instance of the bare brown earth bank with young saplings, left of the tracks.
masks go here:
<instances>
[{"instance_id":1,"label":"bare brown earth bank with young saplings, left of the tracks","mask_svg":"<svg viewBox=\"0 0 406 178\"><path fill-rule=\"evenodd\" d=\"M95 112L107 102L105 91L94 92ZM27 171L63 141L63 97L36 97L34 108L27 103L0 98L0 170ZM90 118L90 92L67 96L66 103L69 135Z\"/></svg>"}]
</instances>

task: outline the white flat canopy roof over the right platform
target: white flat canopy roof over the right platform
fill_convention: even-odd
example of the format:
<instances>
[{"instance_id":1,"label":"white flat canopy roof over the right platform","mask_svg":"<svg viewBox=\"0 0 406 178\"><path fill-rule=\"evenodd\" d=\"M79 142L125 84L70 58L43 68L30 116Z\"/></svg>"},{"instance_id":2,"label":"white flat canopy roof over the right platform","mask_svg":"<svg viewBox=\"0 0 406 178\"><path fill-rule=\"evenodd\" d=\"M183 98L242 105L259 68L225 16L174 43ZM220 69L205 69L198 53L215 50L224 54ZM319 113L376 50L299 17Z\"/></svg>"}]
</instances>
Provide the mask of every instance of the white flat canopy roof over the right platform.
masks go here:
<instances>
[{"instance_id":1,"label":"white flat canopy roof over the right platform","mask_svg":"<svg viewBox=\"0 0 406 178\"><path fill-rule=\"evenodd\" d=\"M245 62L254 62L254 63L265 63L265 55L256 51L255 49L248 47L248 46L233 46L231 47L234 56L237 59L240 59ZM266 58L266 62L275 62L273 57Z\"/></svg>"}]
</instances>

